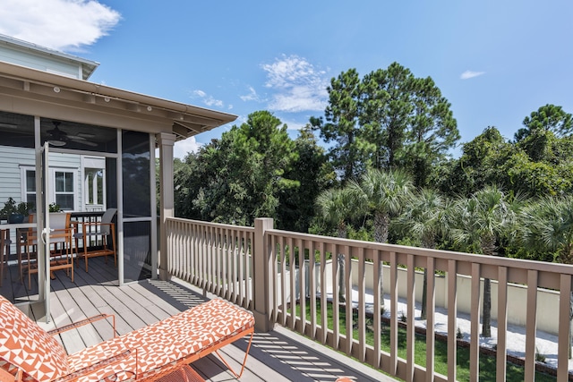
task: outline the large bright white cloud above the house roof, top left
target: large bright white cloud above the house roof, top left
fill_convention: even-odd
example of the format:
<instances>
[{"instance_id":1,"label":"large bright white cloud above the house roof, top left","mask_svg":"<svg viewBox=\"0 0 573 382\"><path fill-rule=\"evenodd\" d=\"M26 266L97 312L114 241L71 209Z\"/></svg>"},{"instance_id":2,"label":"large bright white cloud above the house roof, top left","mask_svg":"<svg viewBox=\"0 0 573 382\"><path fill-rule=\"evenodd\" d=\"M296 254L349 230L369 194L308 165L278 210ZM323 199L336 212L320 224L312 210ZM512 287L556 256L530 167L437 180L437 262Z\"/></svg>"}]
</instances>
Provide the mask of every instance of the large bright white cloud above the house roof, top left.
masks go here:
<instances>
[{"instance_id":1,"label":"large bright white cloud above the house roof, top left","mask_svg":"<svg viewBox=\"0 0 573 382\"><path fill-rule=\"evenodd\" d=\"M73 50L94 44L121 15L97 0L2 0L0 33L42 47Z\"/></svg>"}]
</instances>

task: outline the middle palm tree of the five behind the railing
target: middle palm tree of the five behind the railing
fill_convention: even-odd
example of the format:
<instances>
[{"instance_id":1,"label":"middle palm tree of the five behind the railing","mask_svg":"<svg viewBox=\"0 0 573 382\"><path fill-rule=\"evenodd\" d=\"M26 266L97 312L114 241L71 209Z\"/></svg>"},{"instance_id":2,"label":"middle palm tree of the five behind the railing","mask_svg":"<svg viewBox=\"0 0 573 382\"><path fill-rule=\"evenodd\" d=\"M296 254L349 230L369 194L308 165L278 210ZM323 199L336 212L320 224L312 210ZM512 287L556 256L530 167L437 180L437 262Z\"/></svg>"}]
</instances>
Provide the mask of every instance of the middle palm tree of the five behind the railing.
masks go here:
<instances>
[{"instance_id":1,"label":"middle palm tree of the five behind the railing","mask_svg":"<svg viewBox=\"0 0 573 382\"><path fill-rule=\"evenodd\" d=\"M450 208L449 199L440 192L423 189L416 193L406 205L405 211L398 216L397 224L409 236L417 239L423 248L434 249L436 241L449 232ZM426 295L428 270L423 269L423 293L421 318L426 318Z\"/></svg>"}]
</instances>

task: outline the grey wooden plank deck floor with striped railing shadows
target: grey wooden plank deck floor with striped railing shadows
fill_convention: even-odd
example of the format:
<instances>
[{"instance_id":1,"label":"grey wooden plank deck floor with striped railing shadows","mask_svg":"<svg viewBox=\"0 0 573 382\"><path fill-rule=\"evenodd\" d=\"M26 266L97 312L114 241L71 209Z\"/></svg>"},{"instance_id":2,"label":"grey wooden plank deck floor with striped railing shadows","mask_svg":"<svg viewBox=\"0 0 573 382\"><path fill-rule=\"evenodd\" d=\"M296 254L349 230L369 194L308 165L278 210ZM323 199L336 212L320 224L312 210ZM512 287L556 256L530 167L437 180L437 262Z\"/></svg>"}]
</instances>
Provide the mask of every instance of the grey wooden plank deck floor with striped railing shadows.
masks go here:
<instances>
[{"instance_id":1,"label":"grey wooden plank deck floor with striped railing shadows","mask_svg":"<svg viewBox=\"0 0 573 382\"><path fill-rule=\"evenodd\" d=\"M176 280L145 280L119 287L113 260L106 264L103 258L90 259L90 273L82 265L76 267L73 283L64 271L56 272L55 276L50 294L52 322L38 322L47 329L98 313L113 313L117 332L122 335L205 301L191 285ZM24 283L19 282L17 267L13 266L4 277L0 293L17 303L35 300L38 293L35 283L34 280L28 290L27 277ZM66 351L73 353L109 338L112 331L107 323L98 323L64 333L61 341ZM243 339L223 349L232 367L239 367L246 345L247 340ZM192 367L208 381L235 380L215 355L193 362ZM255 333L240 380L333 382L340 377L356 381L395 380L282 327L269 333Z\"/></svg>"}]
</instances>

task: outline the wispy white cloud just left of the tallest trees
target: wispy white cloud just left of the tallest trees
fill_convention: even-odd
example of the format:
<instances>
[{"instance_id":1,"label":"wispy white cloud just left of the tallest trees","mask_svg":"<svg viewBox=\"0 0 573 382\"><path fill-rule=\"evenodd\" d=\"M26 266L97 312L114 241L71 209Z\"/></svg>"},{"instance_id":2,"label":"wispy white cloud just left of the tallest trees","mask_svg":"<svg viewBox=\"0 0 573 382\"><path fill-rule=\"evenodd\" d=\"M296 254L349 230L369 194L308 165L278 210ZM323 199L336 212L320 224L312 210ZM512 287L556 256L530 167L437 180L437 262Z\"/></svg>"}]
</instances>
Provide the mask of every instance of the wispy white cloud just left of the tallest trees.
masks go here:
<instances>
[{"instance_id":1,"label":"wispy white cloud just left of the tallest trees","mask_svg":"<svg viewBox=\"0 0 573 382\"><path fill-rule=\"evenodd\" d=\"M324 110L329 85L325 71L297 55L283 55L261 67L267 72L265 87L274 92L269 109L290 113Z\"/></svg>"}]
</instances>

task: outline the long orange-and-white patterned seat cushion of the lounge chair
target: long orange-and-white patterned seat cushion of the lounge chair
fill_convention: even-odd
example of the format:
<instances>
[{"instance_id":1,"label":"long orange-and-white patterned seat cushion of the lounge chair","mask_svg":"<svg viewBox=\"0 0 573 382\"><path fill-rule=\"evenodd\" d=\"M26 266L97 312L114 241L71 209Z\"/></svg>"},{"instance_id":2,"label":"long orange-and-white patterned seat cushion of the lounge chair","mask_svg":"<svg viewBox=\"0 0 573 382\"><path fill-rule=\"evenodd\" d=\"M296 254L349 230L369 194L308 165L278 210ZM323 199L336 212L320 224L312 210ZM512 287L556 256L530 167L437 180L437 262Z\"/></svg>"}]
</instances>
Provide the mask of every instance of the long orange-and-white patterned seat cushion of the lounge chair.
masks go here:
<instances>
[{"instance_id":1,"label":"long orange-and-white patterned seat cushion of the lounge chair","mask_svg":"<svg viewBox=\"0 0 573 382\"><path fill-rule=\"evenodd\" d=\"M142 327L126 335L112 338L101 344L76 352L68 357L70 370L76 371L106 360L126 350L132 350L125 361L94 373L79 381L95 381L119 370L136 369L138 378L148 378L175 361L201 352L208 354L213 347L254 326L252 313L220 299L211 300L185 310L173 317ZM128 377L128 376L126 376ZM124 377L124 378L126 378ZM121 380L123 378L118 378Z\"/></svg>"}]
</instances>

